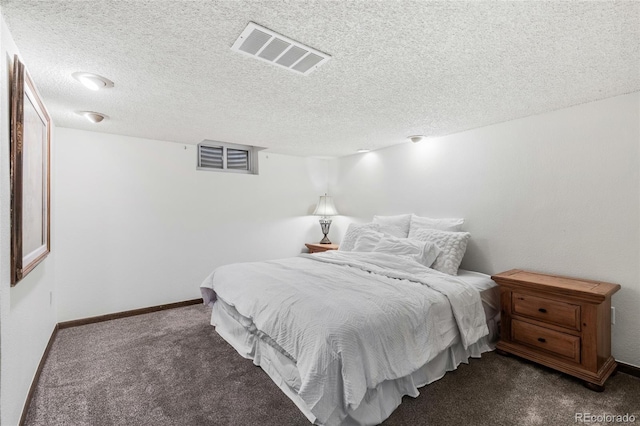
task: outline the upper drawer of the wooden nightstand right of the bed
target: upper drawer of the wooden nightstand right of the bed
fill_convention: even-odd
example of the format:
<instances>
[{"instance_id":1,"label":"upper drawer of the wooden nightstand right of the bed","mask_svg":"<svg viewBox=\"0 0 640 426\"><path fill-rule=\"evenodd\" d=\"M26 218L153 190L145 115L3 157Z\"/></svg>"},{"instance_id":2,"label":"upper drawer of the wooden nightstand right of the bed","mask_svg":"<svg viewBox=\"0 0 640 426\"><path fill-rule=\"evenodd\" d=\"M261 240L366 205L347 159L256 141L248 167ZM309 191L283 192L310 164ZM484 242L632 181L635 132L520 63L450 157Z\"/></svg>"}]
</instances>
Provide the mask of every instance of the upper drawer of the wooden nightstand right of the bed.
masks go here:
<instances>
[{"instance_id":1,"label":"upper drawer of the wooden nightstand right of the bed","mask_svg":"<svg viewBox=\"0 0 640 426\"><path fill-rule=\"evenodd\" d=\"M580 331L579 305L513 292L511 306L514 314Z\"/></svg>"}]
</instances>

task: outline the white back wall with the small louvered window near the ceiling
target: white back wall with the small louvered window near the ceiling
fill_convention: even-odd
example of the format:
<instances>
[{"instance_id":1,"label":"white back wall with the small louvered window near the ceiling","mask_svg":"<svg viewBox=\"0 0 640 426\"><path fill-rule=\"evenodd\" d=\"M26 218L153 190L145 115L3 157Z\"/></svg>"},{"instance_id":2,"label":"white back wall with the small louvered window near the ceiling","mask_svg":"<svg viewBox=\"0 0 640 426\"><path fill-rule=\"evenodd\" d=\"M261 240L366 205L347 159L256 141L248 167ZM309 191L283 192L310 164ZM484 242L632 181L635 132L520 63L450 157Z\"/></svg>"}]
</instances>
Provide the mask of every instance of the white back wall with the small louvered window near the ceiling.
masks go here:
<instances>
[{"instance_id":1,"label":"white back wall with the small louvered window near the ceiling","mask_svg":"<svg viewBox=\"0 0 640 426\"><path fill-rule=\"evenodd\" d=\"M294 256L328 162L260 153L260 174L197 171L196 147L58 128L59 320L200 297L218 265Z\"/></svg>"}]
</instances>

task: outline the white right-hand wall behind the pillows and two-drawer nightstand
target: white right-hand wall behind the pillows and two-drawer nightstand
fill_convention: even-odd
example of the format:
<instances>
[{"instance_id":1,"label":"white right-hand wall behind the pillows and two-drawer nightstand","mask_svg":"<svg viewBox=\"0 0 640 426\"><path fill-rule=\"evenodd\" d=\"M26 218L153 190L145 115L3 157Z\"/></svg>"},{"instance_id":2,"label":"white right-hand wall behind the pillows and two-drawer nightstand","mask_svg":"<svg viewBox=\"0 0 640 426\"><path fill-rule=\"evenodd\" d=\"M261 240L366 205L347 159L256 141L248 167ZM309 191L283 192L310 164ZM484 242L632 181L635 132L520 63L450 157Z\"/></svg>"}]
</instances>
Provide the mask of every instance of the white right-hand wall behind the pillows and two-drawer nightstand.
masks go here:
<instances>
[{"instance_id":1,"label":"white right-hand wall behind the pillows and two-drawer nightstand","mask_svg":"<svg viewBox=\"0 0 640 426\"><path fill-rule=\"evenodd\" d=\"M329 189L360 221L464 217L466 269L619 283L613 355L640 366L639 105L633 93L340 158Z\"/></svg>"}]
</instances>

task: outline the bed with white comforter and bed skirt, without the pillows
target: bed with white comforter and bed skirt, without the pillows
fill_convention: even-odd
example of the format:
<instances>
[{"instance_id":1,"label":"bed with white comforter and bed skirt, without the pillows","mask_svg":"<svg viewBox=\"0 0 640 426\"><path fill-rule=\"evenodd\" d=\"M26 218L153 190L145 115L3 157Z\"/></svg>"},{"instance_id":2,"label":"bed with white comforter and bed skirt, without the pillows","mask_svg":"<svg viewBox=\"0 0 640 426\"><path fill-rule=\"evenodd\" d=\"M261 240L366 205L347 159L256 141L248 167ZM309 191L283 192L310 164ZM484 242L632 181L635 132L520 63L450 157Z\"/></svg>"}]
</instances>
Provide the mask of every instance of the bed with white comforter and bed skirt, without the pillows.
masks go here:
<instances>
[{"instance_id":1,"label":"bed with white comforter and bed skirt, without the pillows","mask_svg":"<svg viewBox=\"0 0 640 426\"><path fill-rule=\"evenodd\" d=\"M406 254L328 251L225 265L201 291L216 331L311 423L372 425L493 349L497 287L456 272Z\"/></svg>"}]
</instances>

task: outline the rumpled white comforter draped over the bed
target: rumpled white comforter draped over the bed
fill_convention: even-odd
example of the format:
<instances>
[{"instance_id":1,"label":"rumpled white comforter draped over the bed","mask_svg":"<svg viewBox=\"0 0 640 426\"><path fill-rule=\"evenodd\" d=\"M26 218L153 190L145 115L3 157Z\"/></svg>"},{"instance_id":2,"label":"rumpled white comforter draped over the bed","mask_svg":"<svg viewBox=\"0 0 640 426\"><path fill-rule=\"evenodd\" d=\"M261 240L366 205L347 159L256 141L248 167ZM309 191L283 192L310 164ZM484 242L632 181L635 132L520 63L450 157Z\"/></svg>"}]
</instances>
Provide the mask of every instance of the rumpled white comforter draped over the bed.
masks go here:
<instances>
[{"instance_id":1,"label":"rumpled white comforter draped over the bed","mask_svg":"<svg viewBox=\"0 0 640 426\"><path fill-rule=\"evenodd\" d=\"M473 287L403 256L329 251L232 264L201 287L205 303L234 306L296 362L295 390L321 424L339 422L368 388L411 374L458 335L466 348L488 334Z\"/></svg>"}]
</instances>

